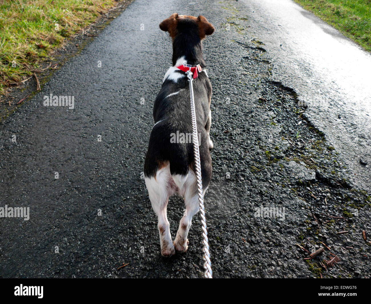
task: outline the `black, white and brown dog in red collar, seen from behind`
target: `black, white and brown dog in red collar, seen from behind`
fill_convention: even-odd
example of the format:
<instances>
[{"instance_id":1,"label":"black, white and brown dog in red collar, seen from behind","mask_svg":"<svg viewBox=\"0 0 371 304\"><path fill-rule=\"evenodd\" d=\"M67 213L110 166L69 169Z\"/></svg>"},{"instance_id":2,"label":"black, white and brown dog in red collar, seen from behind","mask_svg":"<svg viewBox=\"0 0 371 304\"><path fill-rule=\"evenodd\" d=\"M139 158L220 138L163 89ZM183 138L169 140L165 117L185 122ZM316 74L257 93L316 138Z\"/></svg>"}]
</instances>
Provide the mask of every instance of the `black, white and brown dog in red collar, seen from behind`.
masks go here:
<instances>
[{"instance_id":1,"label":"black, white and brown dog in red collar, seen from behind","mask_svg":"<svg viewBox=\"0 0 371 304\"><path fill-rule=\"evenodd\" d=\"M203 195L211 179L211 83L205 70L201 41L215 29L203 16L177 13L162 21L160 29L168 32L173 40L173 66L165 73L154 102L155 124L145 157L144 177L152 208L158 217L161 255L171 256L175 252L187 251L188 231L192 217L198 212L197 179L190 139L190 93L185 73L188 69L194 78ZM173 242L166 208L169 197L175 193L184 197L185 212Z\"/></svg>"}]
</instances>

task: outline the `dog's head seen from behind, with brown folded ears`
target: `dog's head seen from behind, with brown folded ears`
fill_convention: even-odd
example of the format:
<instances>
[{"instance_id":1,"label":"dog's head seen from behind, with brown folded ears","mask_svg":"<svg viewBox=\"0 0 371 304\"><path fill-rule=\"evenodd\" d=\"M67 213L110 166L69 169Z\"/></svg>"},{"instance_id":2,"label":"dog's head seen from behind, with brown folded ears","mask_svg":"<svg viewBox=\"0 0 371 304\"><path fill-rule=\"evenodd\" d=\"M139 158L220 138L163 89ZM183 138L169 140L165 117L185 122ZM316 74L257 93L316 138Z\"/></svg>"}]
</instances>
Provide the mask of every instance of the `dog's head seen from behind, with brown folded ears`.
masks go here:
<instances>
[{"instance_id":1,"label":"dog's head seen from behind, with brown folded ears","mask_svg":"<svg viewBox=\"0 0 371 304\"><path fill-rule=\"evenodd\" d=\"M160 29L169 32L171 38L175 38L178 34L197 33L200 39L204 39L206 35L211 35L215 28L207 22L204 16L185 16L172 14L170 17L160 23Z\"/></svg>"}]
</instances>

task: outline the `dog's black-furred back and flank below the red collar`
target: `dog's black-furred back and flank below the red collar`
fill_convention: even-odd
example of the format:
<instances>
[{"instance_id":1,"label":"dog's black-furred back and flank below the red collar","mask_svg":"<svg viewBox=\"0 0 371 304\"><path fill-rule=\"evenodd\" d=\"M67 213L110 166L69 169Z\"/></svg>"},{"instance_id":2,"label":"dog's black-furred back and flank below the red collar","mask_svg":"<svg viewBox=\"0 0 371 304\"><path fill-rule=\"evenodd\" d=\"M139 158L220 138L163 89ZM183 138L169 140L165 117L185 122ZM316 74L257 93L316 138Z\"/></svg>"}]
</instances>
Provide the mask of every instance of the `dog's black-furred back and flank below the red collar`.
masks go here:
<instances>
[{"instance_id":1,"label":"dog's black-furred back and flank below the red collar","mask_svg":"<svg viewBox=\"0 0 371 304\"><path fill-rule=\"evenodd\" d=\"M211 172L207 173L207 169L209 167L211 169L208 134L211 84L205 73L200 73L197 81L194 81L193 90L194 96L197 96L195 107L198 142L200 158L203 160L201 162L203 186L206 187L211 176ZM171 175L186 175L188 167L193 169L194 161L190 97L186 77L179 79L177 83L169 79L164 81L155 99L153 116L156 123L151 131L145 159L145 176L155 176L157 170L167 163Z\"/></svg>"}]
</instances>

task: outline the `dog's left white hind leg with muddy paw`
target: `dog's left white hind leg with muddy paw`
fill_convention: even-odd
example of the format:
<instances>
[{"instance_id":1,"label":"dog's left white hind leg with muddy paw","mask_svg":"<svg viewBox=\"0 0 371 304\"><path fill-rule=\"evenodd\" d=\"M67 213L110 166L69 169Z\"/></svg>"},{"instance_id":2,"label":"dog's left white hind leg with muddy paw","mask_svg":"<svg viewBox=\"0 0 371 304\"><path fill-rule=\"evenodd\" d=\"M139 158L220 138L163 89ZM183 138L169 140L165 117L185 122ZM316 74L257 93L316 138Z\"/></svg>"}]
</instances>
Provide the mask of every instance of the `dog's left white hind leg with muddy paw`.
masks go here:
<instances>
[{"instance_id":1,"label":"dog's left white hind leg with muddy paw","mask_svg":"<svg viewBox=\"0 0 371 304\"><path fill-rule=\"evenodd\" d=\"M158 232L160 234L161 255L175 254L170 233L170 223L167 219L167 203L169 196L174 194L173 178L169 166L157 171L156 177L145 177L145 184L150 196L152 209L158 218Z\"/></svg>"}]
</instances>

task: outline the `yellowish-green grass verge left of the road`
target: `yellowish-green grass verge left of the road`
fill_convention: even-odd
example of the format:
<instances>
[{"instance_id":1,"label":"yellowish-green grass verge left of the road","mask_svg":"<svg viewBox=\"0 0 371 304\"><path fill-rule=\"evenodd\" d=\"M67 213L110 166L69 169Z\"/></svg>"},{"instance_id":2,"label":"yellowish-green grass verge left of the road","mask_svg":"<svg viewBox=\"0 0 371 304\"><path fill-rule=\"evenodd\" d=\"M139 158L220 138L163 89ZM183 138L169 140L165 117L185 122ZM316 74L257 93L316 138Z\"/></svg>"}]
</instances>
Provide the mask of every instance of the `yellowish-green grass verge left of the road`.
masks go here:
<instances>
[{"instance_id":1,"label":"yellowish-green grass verge left of the road","mask_svg":"<svg viewBox=\"0 0 371 304\"><path fill-rule=\"evenodd\" d=\"M0 94L115 5L115 0L0 0Z\"/></svg>"}]
</instances>

